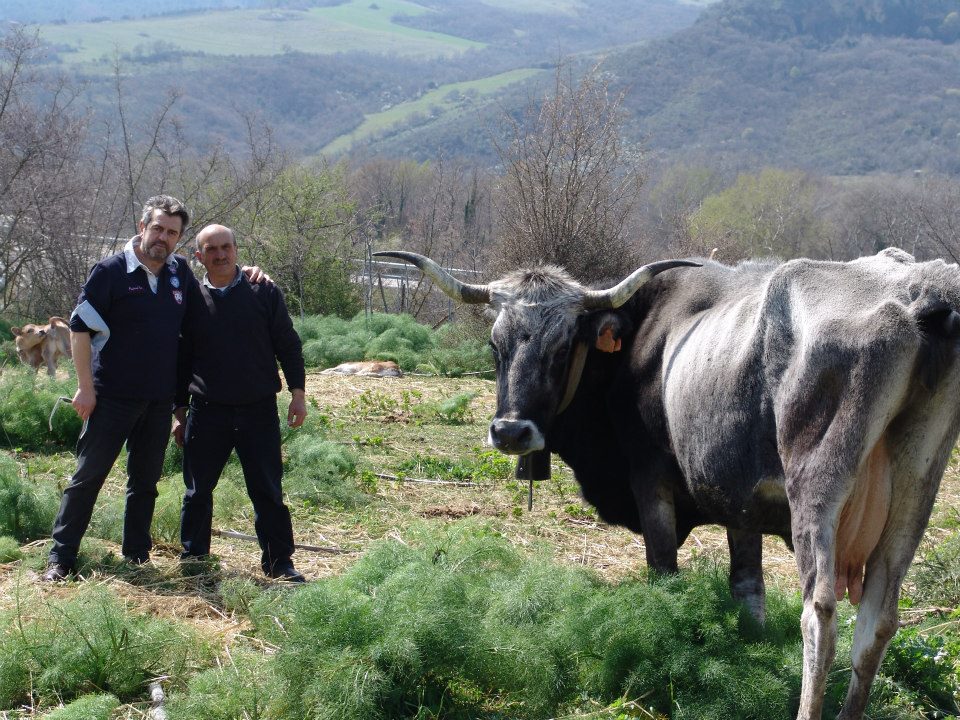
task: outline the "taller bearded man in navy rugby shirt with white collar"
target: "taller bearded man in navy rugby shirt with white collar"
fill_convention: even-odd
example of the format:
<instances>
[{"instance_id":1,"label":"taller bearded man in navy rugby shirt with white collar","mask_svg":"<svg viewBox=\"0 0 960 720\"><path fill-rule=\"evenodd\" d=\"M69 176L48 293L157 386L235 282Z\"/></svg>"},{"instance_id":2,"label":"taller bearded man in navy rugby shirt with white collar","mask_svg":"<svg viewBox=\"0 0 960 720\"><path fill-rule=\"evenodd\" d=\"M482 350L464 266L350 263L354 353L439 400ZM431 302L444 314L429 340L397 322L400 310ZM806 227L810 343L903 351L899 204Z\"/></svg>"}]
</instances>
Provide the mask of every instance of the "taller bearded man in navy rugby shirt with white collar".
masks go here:
<instances>
[{"instance_id":1,"label":"taller bearded man in navy rugby shirt with white collar","mask_svg":"<svg viewBox=\"0 0 960 720\"><path fill-rule=\"evenodd\" d=\"M176 198L143 207L123 252L97 263L70 316L77 370L73 407L84 421L77 471L63 491L42 579L72 572L100 488L127 444L124 557L147 561L157 482L170 432L177 340L187 297L199 294L187 261L173 251L190 215Z\"/></svg>"}]
</instances>

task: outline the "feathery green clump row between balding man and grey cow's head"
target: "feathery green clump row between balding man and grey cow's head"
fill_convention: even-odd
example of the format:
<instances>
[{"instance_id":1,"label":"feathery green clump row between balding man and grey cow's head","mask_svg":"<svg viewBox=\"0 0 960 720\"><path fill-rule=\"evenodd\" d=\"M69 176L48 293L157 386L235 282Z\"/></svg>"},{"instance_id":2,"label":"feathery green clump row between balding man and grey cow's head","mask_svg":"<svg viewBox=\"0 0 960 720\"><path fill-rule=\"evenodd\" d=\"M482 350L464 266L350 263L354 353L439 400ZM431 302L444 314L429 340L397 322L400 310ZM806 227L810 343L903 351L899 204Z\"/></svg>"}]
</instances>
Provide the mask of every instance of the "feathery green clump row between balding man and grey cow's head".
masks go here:
<instances>
[{"instance_id":1,"label":"feathery green clump row between balding man and grey cow's head","mask_svg":"<svg viewBox=\"0 0 960 720\"><path fill-rule=\"evenodd\" d=\"M310 367L356 360L393 360L405 371L457 376L493 369L486 339L461 325L439 330L410 315L360 313L352 320L308 316L294 320Z\"/></svg>"}]
</instances>

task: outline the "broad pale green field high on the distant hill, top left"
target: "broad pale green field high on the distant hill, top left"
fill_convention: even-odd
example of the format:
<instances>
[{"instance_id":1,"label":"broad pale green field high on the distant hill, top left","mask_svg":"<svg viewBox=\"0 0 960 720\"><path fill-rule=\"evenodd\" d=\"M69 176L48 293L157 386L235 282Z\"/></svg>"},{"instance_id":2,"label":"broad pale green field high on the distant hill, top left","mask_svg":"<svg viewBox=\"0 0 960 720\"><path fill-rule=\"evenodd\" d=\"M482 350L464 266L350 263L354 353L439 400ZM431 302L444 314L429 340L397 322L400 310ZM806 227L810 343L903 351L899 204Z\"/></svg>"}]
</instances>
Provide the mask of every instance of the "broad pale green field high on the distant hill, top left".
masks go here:
<instances>
[{"instance_id":1,"label":"broad pale green field high on the distant hill, top left","mask_svg":"<svg viewBox=\"0 0 960 720\"><path fill-rule=\"evenodd\" d=\"M229 10L145 20L44 25L44 40L70 48L68 63L98 63L137 46L174 45L208 55L277 55L287 51L329 54L346 51L438 57L481 47L463 38L426 32L393 22L397 15L428 12L405 0L352 0L333 7L294 10Z\"/></svg>"}]
</instances>

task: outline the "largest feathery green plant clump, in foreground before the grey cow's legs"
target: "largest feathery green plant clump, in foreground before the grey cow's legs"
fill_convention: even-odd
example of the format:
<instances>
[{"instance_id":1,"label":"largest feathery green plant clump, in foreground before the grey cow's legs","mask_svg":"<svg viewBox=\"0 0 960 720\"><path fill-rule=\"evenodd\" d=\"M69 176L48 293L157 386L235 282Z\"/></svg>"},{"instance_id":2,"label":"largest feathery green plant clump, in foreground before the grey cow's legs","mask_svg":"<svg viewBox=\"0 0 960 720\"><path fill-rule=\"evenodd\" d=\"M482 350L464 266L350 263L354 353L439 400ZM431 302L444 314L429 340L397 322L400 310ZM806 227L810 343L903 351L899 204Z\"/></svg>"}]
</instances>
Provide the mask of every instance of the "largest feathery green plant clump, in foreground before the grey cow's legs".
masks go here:
<instances>
[{"instance_id":1,"label":"largest feathery green plant clump, in foreground before the grey cow's legs","mask_svg":"<svg viewBox=\"0 0 960 720\"><path fill-rule=\"evenodd\" d=\"M283 717L542 718L626 696L770 718L799 690L799 607L774 602L763 630L721 572L610 587L459 524L381 543L252 615L280 648Z\"/></svg>"}]
</instances>

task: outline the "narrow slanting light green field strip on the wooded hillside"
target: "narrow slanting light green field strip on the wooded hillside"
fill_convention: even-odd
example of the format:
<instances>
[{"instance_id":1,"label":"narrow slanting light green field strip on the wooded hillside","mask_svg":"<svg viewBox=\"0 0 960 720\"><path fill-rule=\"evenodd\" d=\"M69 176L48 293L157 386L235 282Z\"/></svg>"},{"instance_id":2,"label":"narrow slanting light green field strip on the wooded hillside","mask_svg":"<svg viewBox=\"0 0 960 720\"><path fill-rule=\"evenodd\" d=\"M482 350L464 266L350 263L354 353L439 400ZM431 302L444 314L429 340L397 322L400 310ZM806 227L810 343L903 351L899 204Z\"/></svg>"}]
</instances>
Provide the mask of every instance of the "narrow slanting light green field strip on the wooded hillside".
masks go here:
<instances>
[{"instance_id":1,"label":"narrow slanting light green field strip on the wooded hillside","mask_svg":"<svg viewBox=\"0 0 960 720\"><path fill-rule=\"evenodd\" d=\"M388 135L391 129L410 123L416 116L436 119L469 112L472 100L491 95L497 90L522 82L544 72L534 68L520 68L509 72L460 83L441 85L436 90L424 93L416 100L400 103L382 112L367 115L356 130L342 135L323 148L323 153L336 155L345 152L357 143Z\"/></svg>"}]
</instances>

